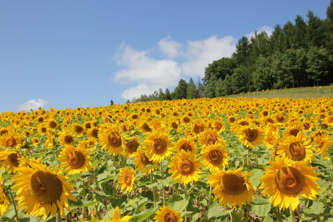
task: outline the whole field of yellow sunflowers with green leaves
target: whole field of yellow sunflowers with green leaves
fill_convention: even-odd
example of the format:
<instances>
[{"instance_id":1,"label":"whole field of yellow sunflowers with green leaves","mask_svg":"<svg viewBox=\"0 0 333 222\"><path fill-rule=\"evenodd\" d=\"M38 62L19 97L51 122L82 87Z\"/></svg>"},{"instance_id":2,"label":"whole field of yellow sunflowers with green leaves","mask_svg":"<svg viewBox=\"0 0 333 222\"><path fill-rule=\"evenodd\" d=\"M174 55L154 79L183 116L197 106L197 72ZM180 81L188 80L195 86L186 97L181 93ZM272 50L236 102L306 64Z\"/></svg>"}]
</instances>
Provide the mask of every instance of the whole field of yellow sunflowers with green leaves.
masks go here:
<instances>
[{"instance_id":1,"label":"whole field of yellow sunflowers with green leaves","mask_svg":"<svg viewBox=\"0 0 333 222\"><path fill-rule=\"evenodd\" d=\"M0 115L0 221L333 221L333 99Z\"/></svg>"}]
</instances>

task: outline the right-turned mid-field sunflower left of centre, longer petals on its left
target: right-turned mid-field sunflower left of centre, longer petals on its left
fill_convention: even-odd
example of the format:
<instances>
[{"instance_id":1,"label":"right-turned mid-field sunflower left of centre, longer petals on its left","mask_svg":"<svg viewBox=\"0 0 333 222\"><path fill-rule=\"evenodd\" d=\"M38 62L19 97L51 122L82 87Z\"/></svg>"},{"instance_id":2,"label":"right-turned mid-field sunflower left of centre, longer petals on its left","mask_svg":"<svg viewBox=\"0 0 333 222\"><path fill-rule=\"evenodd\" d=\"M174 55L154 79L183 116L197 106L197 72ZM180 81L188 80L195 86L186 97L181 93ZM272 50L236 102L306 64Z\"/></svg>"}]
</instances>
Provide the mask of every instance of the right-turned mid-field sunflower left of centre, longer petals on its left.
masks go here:
<instances>
[{"instance_id":1,"label":"right-turned mid-field sunflower left of centre, longer petals on its left","mask_svg":"<svg viewBox=\"0 0 333 222\"><path fill-rule=\"evenodd\" d=\"M114 155L122 153L125 149L125 141L122 139L118 125L108 125L105 129L99 132L98 138L102 148Z\"/></svg>"}]
</instances>

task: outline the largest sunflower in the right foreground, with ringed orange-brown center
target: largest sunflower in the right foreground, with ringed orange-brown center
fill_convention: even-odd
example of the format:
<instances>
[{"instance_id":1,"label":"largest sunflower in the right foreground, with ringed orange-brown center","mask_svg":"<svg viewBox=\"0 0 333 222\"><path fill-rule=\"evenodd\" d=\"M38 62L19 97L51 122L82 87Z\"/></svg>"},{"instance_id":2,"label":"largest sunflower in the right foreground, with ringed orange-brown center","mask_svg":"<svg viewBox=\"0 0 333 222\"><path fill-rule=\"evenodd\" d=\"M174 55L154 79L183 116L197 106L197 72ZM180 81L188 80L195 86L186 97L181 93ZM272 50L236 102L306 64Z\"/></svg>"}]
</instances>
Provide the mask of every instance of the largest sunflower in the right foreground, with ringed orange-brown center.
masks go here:
<instances>
[{"instance_id":1,"label":"largest sunflower in the right foreground, with ringed orange-brown center","mask_svg":"<svg viewBox=\"0 0 333 222\"><path fill-rule=\"evenodd\" d=\"M309 160L298 161L293 164L285 163L280 157L276 162L268 161L270 166L264 166L265 174L261 177L259 188L262 194L269 195L269 202L273 206L283 208L292 207L295 210L299 204L298 194L308 199L316 199L320 191L317 177L320 173L314 172L318 167L309 167Z\"/></svg>"}]
</instances>

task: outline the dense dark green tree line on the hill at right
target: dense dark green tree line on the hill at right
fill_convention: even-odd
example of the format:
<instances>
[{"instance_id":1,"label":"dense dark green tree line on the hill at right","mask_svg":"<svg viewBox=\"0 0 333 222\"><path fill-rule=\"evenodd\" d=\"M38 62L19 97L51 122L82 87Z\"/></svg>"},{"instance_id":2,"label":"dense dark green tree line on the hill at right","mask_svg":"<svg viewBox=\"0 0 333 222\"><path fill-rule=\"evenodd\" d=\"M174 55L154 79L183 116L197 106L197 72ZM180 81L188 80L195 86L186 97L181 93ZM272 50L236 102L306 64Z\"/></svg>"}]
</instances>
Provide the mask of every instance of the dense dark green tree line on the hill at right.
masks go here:
<instances>
[{"instance_id":1,"label":"dense dark green tree line on the hill at right","mask_svg":"<svg viewBox=\"0 0 333 222\"><path fill-rule=\"evenodd\" d=\"M295 24L277 24L272 35L264 31L236 44L231 57L213 61L204 71L203 84L181 79L174 92L168 89L141 95L132 102L220 97L232 94L329 85L333 82L333 0L321 19L308 11ZM130 102L128 100L128 102Z\"/></svg>"}]
</instances>

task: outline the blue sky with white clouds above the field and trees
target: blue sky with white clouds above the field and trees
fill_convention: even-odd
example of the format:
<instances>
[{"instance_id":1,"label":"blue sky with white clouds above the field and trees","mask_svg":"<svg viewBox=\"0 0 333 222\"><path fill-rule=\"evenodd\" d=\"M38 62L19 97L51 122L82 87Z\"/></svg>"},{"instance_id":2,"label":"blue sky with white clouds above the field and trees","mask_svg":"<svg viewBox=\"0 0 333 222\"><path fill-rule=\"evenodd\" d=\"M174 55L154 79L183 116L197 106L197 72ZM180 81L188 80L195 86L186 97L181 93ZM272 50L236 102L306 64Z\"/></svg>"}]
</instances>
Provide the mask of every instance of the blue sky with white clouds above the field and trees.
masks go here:
<instances>
[{"instance_id":1,"label":"blue sky with white clouds above the field and trees","mask_svg":"<svg viewBox=\"0 0 333 222\"><path fill-rule=\"evenodd\" d=\"M204 76L242 36L329 0L0 1L0 112L108 105Z\"/></svg>"}]
</instances>

